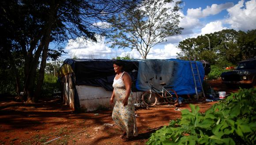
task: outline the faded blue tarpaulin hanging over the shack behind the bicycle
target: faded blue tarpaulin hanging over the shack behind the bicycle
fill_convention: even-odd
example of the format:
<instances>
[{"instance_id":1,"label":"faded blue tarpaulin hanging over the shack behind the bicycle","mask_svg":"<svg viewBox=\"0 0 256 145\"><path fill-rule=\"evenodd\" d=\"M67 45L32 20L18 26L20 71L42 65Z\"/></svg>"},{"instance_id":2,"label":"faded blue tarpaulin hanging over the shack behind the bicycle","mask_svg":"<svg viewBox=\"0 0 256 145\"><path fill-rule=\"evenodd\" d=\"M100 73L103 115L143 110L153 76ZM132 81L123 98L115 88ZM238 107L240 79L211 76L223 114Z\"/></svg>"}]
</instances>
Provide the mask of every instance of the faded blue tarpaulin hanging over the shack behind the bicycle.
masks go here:
<instances>
[{"instance_id":1,"label":"faded blue tarpaulin hanging over the shack behind the bicycle","mask_svg":"<svg viewBox=\"0 0 256 145\"><path fill-rule=\"evenodd\" d=\"M194 61L193 61L194 62ZM201 83L203 83L204 69L201 62L195 61L199 70ZM193 68L196 68L193 64ZM194 69L197 73L197 70ZM149 80L153 78L152 81ZM196 80L199 80L196 77ZM136 81L136 88L140 91L147 91L151 85L146 82L152 82L153 86L162 91L160 83L166 83L166 87L173 87L177 94L196 94L195 83L193 79L190 61L168 59L168 60L139 60L139 70ZM197 86L200 82L197 81ZM201 92L201 87L198 88Z\"/></svg>"}]
</instances>

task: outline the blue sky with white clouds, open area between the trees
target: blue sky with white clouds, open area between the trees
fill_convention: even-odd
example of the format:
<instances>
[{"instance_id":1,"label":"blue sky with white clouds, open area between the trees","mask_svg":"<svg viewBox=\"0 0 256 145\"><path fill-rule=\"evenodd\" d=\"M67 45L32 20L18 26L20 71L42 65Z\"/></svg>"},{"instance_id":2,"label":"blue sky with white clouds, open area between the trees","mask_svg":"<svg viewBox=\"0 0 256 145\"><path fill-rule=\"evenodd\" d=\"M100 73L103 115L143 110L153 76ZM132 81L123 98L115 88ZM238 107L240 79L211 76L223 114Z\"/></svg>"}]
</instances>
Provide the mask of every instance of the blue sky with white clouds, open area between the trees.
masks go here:
<instances>
[{"instance_id":1,"label":"blue sky with white clouds, open area between the trees","mask_svg":"<svg viewBox=\"0 0 256 145\"><path fill-rule=\"evenodd\" d=\"M167 42L156 45L147 58L169 59L176 58L180 52L177 45L180 41L214 33L222 29L248 31L256 29L256 0L183 0L183 9L179 13L183 16L180 26L184 28L181 35L167 37ZM65 47L68 54L63 59L72 58L108 58L125 56L141 58L136 50L112 49L103 39L99 43L81 43L70 40Z\"/></svg>"}]
</instances>

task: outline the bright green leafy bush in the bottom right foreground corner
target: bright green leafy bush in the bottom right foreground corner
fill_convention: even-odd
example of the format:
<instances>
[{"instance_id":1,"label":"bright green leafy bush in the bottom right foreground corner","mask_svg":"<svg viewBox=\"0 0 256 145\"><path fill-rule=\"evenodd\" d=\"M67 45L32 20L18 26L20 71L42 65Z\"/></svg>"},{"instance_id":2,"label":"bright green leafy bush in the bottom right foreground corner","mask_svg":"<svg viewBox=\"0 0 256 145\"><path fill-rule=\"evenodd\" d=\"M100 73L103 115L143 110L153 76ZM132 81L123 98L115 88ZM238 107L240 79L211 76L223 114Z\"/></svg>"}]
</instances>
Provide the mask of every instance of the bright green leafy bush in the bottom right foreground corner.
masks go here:
<instances>
[{"instance_id":1,"label":"bright green leafy bush in the bottom right foreground corner","mask_svg":"<svg viewBox=\"0 0 256 145\"><path fill-rule=\"evenodd\" d=\"M256 143L256 88L240 89L200 113L181 111L182 118L172 120L147 141L147 145L254 145Z\"/></svg>"}]
</instances>

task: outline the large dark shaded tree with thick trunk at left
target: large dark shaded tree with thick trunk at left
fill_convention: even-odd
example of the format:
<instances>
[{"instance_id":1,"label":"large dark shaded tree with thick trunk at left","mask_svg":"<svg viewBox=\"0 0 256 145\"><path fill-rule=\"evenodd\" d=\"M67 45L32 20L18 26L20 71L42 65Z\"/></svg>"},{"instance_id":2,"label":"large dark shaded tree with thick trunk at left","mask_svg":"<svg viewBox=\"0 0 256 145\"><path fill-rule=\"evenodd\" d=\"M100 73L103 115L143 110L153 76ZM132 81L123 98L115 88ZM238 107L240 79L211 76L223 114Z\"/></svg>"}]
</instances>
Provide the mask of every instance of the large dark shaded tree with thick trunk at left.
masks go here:
<instances>
[{"instance_id":1,"label":"large dark shaded tree with thick trunk at left","mask_svg":"<svg viewBox=\"0 0 256 145\"><path fill-rule=\"evenodd\" d=\"M49 43L77 37L97 41L95 35L105 33L102 24L111 22L113 15L136 4L134 1L2 1L0 29L4 33L1 33L3 43L0 48L8 54L8 62L14 63L10 64L12 68L17 68L15 61L12 61L16 56L24 62L24 99L29 102L38 100L47 58L56 59L63 52L63 47L50 49Z\"/></svg>"}]
</instances>

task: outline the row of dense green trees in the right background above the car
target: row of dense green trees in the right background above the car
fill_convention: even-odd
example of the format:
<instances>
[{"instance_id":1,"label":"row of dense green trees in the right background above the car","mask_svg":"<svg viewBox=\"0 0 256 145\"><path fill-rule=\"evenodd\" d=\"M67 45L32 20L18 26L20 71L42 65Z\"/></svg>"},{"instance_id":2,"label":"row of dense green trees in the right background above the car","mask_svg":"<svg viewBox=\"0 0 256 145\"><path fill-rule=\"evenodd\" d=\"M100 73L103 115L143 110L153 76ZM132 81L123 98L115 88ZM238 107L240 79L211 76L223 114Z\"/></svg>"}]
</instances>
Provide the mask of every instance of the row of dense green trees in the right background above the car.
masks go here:
<instances>
[{"instance_id":1,"label":"row of dense green trees in the right background above the car","mask_svg":"<svg viewBox=\"0 0 256 145\"><path fill-rule=\"evenodd\" d=\"M225 29L206 34L206 36L210 39L211 53L208 39L204 36L197 36L179 43L178 48L181 52L177 54L177 58L184 60L198 58L210 62L211 65L231 66L256 56L256 29L247 33Z\"/></svg>"}]
</instances>

